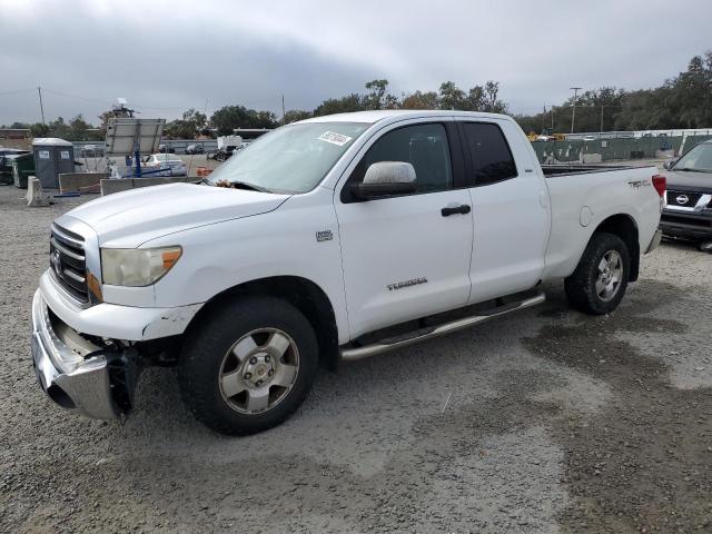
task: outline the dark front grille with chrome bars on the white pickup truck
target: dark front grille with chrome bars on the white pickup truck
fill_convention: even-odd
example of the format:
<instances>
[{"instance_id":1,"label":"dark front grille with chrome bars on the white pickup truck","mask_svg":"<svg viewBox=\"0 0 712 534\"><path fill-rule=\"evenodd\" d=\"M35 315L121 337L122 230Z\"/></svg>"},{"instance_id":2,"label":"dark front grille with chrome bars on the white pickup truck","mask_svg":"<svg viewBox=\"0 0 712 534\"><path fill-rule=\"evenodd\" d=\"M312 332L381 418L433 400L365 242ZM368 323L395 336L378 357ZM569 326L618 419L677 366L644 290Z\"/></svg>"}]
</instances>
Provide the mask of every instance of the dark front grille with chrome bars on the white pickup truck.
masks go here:
<instances>
[{"instance_id":1,"label":"dark front grille with chrome bars on the white pickup truck","mask_svg":"<svg viewBox=\"0 0 712 534\"><path fill-rule=\"evenodd\" d=\"M89 301L83 237L52 225L49 265L57 283L81 303Z\"/></svg>"}]
</instances>

